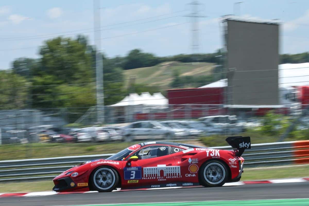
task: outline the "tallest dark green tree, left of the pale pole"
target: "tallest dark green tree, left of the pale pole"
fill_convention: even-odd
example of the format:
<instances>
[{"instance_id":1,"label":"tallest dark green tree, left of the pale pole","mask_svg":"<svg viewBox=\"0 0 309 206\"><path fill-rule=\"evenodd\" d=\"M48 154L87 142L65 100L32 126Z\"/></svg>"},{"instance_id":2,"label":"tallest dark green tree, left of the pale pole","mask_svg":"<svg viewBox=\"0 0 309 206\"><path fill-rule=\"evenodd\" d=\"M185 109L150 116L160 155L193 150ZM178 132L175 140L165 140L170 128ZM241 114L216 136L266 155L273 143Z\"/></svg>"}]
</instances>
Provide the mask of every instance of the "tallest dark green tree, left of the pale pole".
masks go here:
<instances>
[{"instance_id":1,"label":"tallest dark green tree, left of the pale pole","mask_svg":"<svg viewBox=\"0 0 309 206\"><path fill-rule=\"evenodd\" d=\"M53 75L62 83L89 83L93 69L91 54L81 39L57 37L48 40L40 48L41 71L37 76Z\"/></svg>"}]
</instances>

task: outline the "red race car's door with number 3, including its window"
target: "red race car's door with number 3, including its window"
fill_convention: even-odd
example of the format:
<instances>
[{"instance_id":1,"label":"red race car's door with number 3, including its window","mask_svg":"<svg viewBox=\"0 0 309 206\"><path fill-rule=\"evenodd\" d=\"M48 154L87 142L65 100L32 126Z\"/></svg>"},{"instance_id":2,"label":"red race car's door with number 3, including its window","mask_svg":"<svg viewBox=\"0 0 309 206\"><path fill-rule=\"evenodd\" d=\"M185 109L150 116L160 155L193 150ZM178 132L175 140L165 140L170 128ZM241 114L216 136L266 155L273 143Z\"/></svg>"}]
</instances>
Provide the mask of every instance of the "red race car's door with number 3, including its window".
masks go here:
<instances>
[{"instance_id":1,"label":"red race car's door with number 3, including its window","mask_svg":"<svg viewBox=\"0 0 309 206\"><path fill-rule=\"evenodd\" d=\"M167 145L146 146L133 153L137 161L124 161L124 187L166 187L166 183L180 179L180 166L169 155Z\"/></svg>"}]
</instances>

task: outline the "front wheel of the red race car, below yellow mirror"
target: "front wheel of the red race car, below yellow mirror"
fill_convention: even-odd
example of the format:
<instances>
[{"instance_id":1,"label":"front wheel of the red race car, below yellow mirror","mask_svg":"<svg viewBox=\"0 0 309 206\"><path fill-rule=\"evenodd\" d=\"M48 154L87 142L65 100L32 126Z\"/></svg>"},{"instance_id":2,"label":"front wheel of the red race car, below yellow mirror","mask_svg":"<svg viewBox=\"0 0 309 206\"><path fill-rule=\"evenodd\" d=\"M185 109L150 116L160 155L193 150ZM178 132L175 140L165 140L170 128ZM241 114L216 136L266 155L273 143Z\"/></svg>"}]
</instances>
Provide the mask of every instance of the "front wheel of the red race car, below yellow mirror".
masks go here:
<instances>
[{"instance_id":1,"label":"front wheel of the red race car, below yellow mirror","mask_svg":"<svg viewBox=\"0 0 309 206\"><path fill-rule=\"evenodd\" d=\"M111 192L116 189L119 177L112 167L98 167L90 175L89 189L99 192Z\"/></svg>"}]
</instances>

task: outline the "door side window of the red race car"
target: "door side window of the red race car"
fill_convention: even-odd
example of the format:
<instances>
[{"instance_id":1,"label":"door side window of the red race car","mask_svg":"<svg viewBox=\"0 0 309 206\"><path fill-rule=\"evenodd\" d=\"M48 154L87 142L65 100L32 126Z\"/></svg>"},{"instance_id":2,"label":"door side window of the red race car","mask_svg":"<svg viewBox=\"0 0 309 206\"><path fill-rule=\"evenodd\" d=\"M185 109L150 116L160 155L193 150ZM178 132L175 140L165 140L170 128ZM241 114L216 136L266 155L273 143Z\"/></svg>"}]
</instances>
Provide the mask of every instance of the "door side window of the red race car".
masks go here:
<instances>
[{"instance_id":1,"label":"door side window of the red race car","mask_svg":"<svg viewBox=\"0 0 309 206\"><path fill-rule=\"evenodd\" d=\"M167 154L168 146L150 146L139 150L134 155L138 156L138 159L149 159L162 157Z\"/></svg>"}]
</instances>

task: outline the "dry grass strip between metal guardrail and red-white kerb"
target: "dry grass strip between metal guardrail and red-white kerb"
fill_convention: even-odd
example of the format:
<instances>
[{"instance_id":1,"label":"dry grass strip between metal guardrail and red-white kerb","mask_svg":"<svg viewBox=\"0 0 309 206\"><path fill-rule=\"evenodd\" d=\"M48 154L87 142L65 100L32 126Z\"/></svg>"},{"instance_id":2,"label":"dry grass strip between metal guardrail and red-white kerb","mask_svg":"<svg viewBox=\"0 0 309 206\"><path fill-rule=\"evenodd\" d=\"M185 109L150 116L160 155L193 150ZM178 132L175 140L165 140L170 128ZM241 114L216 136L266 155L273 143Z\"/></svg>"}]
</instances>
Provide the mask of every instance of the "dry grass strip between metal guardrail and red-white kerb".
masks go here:
<instances>
[{"instance_id":1,"label":"dry grass strip between metal guardrail and red-white kerb","mask_svg":"<svg viewBox=\"0 0 309 206\"><path fill-rule=\"evenodd\" d=\"M245 169L241 181L308 177L309 165ZM0 183L0 193L51 191L53 181Z\"/></svg>"}]
</instances>

